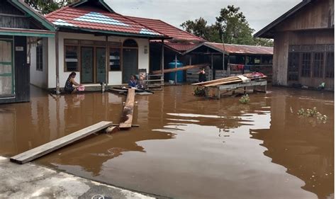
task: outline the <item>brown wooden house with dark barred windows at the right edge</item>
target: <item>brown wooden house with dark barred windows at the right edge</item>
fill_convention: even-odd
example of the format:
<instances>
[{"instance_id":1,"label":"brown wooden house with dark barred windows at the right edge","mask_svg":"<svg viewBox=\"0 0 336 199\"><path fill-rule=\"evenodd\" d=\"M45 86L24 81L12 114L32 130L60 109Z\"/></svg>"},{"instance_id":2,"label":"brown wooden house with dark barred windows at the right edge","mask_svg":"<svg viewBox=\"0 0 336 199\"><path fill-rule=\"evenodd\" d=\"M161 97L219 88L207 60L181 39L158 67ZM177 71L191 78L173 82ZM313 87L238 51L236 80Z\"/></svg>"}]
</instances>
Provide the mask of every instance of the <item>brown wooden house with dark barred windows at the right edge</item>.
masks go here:
<instances>
[{"instance_id":1,"label":"brown wooden house with dark barred windows at the right edge","mask_svg":"<svg viewBox=\"0 0 336 199\"><path fill-rule=\"evenodd\" d=\"M334 90L333 0L304 0L254 37L274 39L274 85Z\"/></svg>"}]
</instances>

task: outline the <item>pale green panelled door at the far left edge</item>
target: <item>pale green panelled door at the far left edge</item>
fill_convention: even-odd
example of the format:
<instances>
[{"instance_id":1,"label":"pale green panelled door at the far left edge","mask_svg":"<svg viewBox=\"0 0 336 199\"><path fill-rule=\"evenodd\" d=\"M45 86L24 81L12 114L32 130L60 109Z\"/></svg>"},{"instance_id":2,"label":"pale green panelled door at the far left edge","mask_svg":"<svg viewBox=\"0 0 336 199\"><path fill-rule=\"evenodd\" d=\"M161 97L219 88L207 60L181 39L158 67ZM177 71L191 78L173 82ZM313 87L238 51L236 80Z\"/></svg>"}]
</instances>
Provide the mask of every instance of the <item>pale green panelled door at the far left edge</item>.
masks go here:
<instances>
[{"instance_id":1,"label":"pale green panelled door at the far left edge","mask_svg":"<svg viewBox=\"0 0 336 199\"><path fill-rule=\"evenodd\" d=\"M13 42L0 40L0 97L14 94Z\"/></svg>"}]
</instances>

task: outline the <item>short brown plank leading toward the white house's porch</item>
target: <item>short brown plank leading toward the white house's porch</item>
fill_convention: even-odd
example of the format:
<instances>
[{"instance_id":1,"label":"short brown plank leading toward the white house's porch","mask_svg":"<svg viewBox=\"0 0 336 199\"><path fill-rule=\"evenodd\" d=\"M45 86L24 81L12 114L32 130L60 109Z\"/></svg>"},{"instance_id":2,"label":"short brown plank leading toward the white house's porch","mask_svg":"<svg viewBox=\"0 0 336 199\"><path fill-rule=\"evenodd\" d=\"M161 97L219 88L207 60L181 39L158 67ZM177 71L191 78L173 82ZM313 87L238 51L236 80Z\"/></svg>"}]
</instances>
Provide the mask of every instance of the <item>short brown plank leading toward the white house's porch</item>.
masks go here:
<instances>
[{"instance_id":1,"label":"short brown plank leading toward the white house's porch","mask_svg":"<svg viewBox=\"0 0 336 199\"><path fill-rule=\"evenodd\" d=\"M121 122L119 124L120 129L132 127L134 97L135 89L128 89L123 114L121 115Z\"/></svg>"}]
</instances>

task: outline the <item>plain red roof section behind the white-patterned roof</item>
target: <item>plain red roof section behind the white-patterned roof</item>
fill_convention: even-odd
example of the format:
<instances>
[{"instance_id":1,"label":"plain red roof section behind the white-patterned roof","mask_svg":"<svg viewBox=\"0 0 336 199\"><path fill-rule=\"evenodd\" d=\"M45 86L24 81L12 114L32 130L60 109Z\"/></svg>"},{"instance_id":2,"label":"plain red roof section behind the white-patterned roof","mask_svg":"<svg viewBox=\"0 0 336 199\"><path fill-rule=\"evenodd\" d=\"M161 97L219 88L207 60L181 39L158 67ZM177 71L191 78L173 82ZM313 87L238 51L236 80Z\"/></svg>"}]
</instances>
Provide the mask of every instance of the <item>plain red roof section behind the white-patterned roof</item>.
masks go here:
<instances>
[{"instance_id":1,"label":"plain red roof section behind the white-patterned roof","mask_svg":"<svg viewBox=\"0 0 336 199\"><path fill-rule=\"evenodd\" d=\"M176 28L175 26L165 23L164 21L161 21L159 19L140 18L135 16L127 16L127 17L133 19L134 21L142 25L146 25L148 28L151 28L152 30L167 35L173 38L174 40L190 40L196 42L206 41L203 38L199 38L196 35L193 35L184 30Z\"/></svg>"}]
</instances>

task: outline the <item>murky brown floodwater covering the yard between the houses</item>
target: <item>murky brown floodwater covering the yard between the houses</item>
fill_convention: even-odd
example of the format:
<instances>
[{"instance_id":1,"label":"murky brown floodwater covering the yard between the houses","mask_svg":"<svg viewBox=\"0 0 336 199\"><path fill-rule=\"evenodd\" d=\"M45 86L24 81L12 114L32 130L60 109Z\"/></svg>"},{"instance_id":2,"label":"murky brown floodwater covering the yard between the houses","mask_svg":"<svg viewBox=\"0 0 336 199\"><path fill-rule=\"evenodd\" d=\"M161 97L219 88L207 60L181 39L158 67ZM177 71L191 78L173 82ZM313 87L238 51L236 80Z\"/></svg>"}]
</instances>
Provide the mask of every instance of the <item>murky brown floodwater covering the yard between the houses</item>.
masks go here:
<instances>
[{"instance_id":1,"label":"murky brown floodwater covering the yard between the houses","mask_svg":"<svg viewBox=\"0 0 336 199\"><path fill-rule=\"evenodd\" d=\"M333 198L333 93L270 88L211 100L191 86L135 96L133 127L35 160L70 174L172 198ZM119 123L125 96L53 97L0 105L0 155L11 157L101 120ZM316 107L327 123L301 118Z\"/></svg>"}]
</instances>

